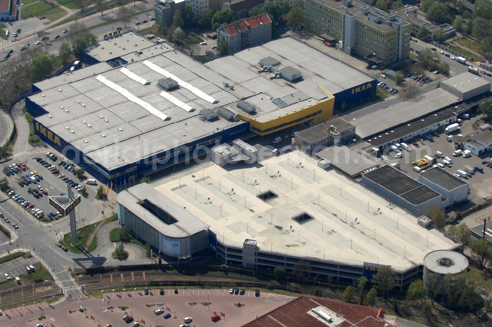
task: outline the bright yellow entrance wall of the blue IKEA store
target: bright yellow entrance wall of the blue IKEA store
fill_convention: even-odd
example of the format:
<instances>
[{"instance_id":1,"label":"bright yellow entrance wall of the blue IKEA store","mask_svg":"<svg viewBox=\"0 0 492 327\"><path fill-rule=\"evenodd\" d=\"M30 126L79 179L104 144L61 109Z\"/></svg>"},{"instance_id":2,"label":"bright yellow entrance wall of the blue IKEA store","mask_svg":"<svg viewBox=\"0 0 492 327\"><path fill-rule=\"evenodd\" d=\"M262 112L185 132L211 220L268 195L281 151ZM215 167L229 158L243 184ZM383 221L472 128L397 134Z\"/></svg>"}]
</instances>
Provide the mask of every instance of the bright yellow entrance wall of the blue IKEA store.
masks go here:
<instances>
[{"instance_id":1,"label":"bright yellow entrance wall of the blue IKEA store","mask_svg":"<svg viewBox=\"0 0 492 327\"><path fill-rule=\"evenodd\" d=\"M249 122L249 129L258 135L268 135L287 129L289 127L307 122L312 119L321 118L328 120L333 115L333 106L335 104L335 97L331 97L318 103L313 103L304 109L300 109L296 112L291 112L287 115L282 115L276 119L272 119L266 122L259 122L252 117L245 116L238 113L238 118ZM320 111L319 113L317 113ZM304 118L303 118L304 117Z\"/></svg>"}]
</instances>

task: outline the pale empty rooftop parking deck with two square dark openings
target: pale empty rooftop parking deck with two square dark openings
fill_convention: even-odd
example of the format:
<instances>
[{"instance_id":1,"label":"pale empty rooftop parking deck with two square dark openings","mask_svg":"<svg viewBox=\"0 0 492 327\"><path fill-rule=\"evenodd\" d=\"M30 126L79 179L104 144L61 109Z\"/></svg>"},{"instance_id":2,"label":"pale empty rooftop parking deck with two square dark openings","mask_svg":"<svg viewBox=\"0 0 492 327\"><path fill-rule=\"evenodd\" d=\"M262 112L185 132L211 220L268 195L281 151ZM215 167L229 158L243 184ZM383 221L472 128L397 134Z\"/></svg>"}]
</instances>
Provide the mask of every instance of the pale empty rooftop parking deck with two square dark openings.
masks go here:
<instances>
[{"instance_id":1,"label":"pale empty rooftop parking deck with two square dark openings","mask_svg":"<svg viewBox=\"0 0 492 327\"><path fill-rule=\"evenodd\" d=\"M210 225L229 246L242 248L245 239L254 239L261 251L358 265L379 262L397 270L422 263L431 249L457 246L436 229L417 225L401 208L387 208L388 200L364 186L318 167L299 150L254 165L204 163L151 186ZM267 202L257 197L267 190L278 197ZM374 215L377 208L381 214ZM292 217L304 211L314 220L299 225Z\"/></svg>"}]
</instances>

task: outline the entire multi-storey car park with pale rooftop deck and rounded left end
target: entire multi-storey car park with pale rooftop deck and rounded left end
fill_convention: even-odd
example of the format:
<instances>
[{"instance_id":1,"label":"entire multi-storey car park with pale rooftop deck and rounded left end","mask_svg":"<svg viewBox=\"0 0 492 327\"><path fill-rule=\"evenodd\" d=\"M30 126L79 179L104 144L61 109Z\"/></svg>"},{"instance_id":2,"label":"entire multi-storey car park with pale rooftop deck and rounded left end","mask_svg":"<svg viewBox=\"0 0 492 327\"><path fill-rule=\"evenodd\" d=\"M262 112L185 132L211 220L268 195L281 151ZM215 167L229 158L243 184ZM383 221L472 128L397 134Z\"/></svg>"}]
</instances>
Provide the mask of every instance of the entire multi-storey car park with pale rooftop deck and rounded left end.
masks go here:
<instances>
[{"instance_id":1,"label":"entire multi-storey car park with pale rooftop deck and rounded left end","mask_svg":"<svg viewBox=\"0 0 492 327\"><path fill-rule=\"evenodd\" d=\"M208 249L228 265L302 269L338 283L370 279L389 265L407 285L431 249L459 246L301 151L261 164L203 163L129 188L117 201L122 224L165 255Z\"/></svg>"}]
</instances>

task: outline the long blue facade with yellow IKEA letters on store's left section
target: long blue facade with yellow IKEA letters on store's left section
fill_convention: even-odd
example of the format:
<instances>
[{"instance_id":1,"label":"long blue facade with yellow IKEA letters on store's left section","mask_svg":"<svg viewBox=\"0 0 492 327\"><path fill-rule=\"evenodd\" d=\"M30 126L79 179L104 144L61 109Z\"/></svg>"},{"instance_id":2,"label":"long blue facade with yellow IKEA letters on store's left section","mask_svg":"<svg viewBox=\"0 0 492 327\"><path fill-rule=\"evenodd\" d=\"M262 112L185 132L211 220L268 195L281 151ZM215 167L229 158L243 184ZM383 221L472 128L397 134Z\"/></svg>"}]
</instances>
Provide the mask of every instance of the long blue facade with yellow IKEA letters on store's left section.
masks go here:
<instances>
[{"instance_id":1,"label":"long blue facade with yellow IKEA letters on store's left section","mask_svg":"<svg viewBox=\"0 0 492 327\"><path fill-rule=\"evenodd\" d=\"M44 115L47 112L38 104L26 98L26 110L34 117ZM182 163L186 159L193 159L192 152L197 147L206 146L208 148L217 145L217 143L228 142L239 138L241 135L249 131L249 123L243 122L222 131L217 131L211 135L186 143L155 154L152 157L144 158L138 162L128 163L119 168L108 170L100 163L92 160L88 155L66 142L62 137L50 131L48 128L40 124L35 118L32 120L34 133L39 135L41 140L52 146L60 152L62 156L72 161L73 163L83 167L88 173L104 184L111 184L115 188L123 189L130 186L133 180L139 180L144 171L161 170L166 167L173 166L177 163Z\"/></svg>"}]
</instances>

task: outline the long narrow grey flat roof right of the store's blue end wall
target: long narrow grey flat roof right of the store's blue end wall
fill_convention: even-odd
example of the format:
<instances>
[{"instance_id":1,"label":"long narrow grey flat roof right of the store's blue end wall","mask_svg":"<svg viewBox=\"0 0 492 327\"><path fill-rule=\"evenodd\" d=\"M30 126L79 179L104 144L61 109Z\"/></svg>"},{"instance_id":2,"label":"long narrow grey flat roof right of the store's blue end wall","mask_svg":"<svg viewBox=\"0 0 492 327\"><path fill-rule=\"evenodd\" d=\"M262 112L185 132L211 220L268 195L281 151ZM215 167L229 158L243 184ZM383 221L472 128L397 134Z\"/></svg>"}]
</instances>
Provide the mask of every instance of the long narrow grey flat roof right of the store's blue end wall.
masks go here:
<instances>
[{"instance_id":1,"label":"long narrow grey flat roof right of the store's blue end wall","mask_svg":"<svg viewBox=\"0 0 492 327\"><path fill-rule=\"evenodd\" d=\"M404 124L413 119L445 108L458 101L458 98L443 89L435 89L416 98L400 101L382 109L380 103L342 116L347 122L356 126L356 134L367 138L381 131Z\"/></svg>"}]
</instances>

